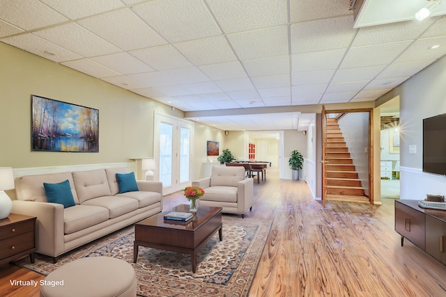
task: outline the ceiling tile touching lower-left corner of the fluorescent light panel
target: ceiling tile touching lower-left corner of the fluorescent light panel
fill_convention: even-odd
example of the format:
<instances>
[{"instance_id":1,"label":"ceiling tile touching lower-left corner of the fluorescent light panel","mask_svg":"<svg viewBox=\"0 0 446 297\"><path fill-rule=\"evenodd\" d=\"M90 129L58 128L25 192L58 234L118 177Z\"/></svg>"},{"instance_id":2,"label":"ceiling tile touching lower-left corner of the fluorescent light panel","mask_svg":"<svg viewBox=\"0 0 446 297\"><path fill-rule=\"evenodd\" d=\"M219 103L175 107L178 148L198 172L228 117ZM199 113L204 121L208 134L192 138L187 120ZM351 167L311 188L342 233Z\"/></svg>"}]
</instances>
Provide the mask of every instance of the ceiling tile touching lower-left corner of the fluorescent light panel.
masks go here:
<instances>
[{"instance_id":1,"label":"ceiling tile touching lower-left corner of the fluorescent light panel","mask_svg":"<svg viewBox=\"0 0 446 297\"><path fill-rule=\"evenodd\" d=\"M352 27L351 16L291 24L291 54L348 47L357 31Z\"/></svg>"}]
</instances>

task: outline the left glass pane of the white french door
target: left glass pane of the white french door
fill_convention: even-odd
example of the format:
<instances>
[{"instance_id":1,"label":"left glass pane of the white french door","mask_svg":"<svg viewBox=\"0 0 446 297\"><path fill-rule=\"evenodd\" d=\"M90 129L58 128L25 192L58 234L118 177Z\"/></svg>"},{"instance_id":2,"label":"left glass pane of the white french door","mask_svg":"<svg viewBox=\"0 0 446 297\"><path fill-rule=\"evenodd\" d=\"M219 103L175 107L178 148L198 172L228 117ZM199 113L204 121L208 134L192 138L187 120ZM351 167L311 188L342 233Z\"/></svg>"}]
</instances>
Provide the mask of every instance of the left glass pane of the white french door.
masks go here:
<instances>
[{"instance_id":1,"label":"left glass pane of the white french door","mask_svg":"<svg viewBox=\"0 0 446 297\"><path fill-rule=\"evenodd\" d=\"M160 182L172 184L172 134L174 127L164 122L160 125Z\"/></svg>"}]
</instances>

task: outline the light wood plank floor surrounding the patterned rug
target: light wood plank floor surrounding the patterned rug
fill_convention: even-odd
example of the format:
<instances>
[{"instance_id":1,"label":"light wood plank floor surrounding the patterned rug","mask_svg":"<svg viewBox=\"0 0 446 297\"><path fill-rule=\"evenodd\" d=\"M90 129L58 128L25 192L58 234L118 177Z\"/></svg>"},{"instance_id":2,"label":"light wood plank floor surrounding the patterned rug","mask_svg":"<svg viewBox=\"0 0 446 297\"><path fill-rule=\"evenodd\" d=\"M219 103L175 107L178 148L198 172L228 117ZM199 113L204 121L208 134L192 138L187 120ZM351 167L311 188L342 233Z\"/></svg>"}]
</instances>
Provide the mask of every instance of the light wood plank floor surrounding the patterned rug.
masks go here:
<instances>
[{"instance_id":1,"label":"light wood plank floor surrounding the patterned rug","mask_svg":"<svg viewBox=\"0 0 446 297\"><path fill-rule=\"evenodd\" d=\"M183 202L181 193L167 195L164 208ZM407 240L401 247L394 199L380 206L328 201L323 209L304 181L279 179L268 168L268 179L254 182L245 218L272 220L249 296L446 296L446 266ZM0 269L1 296L38 296L38 289L11 291L9 280L41 275Z\"/></svg>"}]
</instances>

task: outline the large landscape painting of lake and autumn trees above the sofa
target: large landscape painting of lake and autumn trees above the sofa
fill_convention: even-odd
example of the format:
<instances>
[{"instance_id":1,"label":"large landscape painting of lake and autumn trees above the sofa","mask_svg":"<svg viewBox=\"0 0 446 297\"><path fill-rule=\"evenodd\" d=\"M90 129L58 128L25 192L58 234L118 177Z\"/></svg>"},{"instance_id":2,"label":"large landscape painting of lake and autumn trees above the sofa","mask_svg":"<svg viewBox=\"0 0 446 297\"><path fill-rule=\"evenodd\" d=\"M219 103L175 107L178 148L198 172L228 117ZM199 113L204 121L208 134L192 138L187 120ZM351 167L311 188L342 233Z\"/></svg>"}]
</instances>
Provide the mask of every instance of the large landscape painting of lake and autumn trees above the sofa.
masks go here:
<instances>
[{"instance_id":1,"label":"large landscape painting of lake and autumn trees above the sofa","mask_svg":"<svg viewBox=\"0 0 446 297\"><path fill-rule=\"evenodd\" d=\"M31 95L31 150L99 152L99 110Z\"/></svg>"}]
</instances>

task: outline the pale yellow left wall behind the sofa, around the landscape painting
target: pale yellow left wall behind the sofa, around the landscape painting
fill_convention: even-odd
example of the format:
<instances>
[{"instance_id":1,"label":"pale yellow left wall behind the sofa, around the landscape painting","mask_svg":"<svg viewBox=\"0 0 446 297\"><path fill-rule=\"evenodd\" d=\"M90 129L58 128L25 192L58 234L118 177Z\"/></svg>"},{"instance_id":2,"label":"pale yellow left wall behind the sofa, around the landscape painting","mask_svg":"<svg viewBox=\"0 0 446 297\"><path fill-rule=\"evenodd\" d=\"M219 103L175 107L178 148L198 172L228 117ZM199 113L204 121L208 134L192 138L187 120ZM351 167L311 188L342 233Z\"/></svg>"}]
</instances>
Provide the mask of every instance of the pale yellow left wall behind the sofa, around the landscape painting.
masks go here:
<instances>
[{"instance_id":1,"label":"pale yellow left wall behind the sofa, around the landscape painting","mask_svg":"<svg viewBox=\"0 0 446 297\"><path fill-rule=\"evenodd\" d=\"M0 166L127 162L153 155L153 113L182 111L0 42ZM31 95L99 110L98 153L31 152Z\"/></svg>"}]
</instances>

